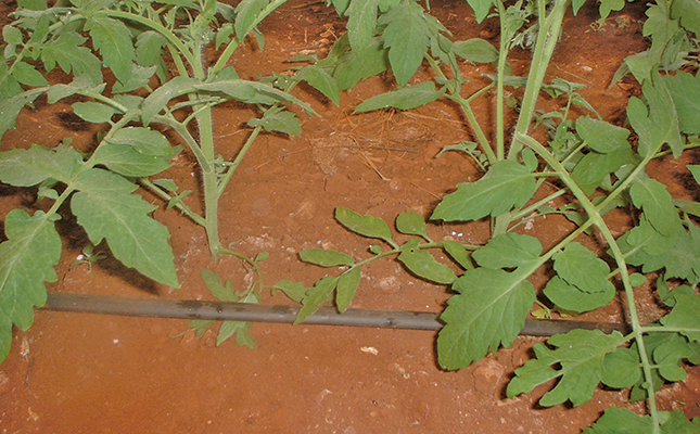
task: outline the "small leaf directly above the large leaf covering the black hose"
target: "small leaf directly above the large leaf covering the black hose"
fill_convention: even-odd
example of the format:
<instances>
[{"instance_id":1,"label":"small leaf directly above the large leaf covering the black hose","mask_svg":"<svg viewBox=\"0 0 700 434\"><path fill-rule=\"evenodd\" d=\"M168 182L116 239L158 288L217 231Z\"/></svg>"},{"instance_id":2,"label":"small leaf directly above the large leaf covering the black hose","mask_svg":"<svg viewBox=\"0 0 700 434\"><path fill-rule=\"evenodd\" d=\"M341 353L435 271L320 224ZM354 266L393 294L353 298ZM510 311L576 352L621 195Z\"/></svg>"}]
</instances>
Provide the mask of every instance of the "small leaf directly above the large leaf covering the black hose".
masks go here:
<instances>
[{"instance_id":1,"label":"small leaf directly above the large leaf covering the black hose","mask_svg":"<svg viewBox=\"0 0 700 434\"><path fill-rule=\"evenodd\" d=\"M472 258L486 268L516 268L539 259L542 243L534 237L507 232L488 240L472 253Z\"/></svg>"}]
</instances>

